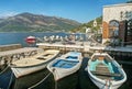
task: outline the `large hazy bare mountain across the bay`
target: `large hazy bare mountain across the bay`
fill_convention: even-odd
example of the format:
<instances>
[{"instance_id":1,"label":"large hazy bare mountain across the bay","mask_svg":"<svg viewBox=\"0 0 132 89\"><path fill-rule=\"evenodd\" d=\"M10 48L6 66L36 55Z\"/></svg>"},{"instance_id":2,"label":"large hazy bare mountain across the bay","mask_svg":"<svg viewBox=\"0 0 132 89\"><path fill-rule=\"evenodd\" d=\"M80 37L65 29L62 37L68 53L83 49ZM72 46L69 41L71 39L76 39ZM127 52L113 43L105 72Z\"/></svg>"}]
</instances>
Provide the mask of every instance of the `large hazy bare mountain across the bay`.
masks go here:
<instances>
[{"instance_id":1,"label":"large hazy bare mountain across the bay","mask_svg":"<svg viewBox=\"0 0 132 89\"><path fill-rule=\"evenodd\" d=\"M0 32L58 32L70 31L79 25L74 20L28 12L0 19Z\"/></svg>"}]
</instances>

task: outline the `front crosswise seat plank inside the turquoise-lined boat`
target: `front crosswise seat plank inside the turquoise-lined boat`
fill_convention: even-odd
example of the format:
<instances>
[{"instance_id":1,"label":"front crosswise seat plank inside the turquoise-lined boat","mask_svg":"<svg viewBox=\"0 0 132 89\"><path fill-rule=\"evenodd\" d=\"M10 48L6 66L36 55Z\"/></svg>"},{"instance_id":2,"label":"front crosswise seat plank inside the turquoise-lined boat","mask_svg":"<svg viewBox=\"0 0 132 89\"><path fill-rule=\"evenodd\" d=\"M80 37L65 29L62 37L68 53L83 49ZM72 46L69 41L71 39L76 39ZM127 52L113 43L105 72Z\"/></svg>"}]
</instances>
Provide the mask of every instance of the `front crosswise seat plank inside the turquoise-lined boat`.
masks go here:
<instances>
[{"instance_id":1,"label":"front crosswise seat plank inside the turquoise-lined boat","mask_svg":"<svg viewBox=\"0 0 132 89\"><path fill-rule=\"evenodd\" d=\"M98 75L98 76L109 76L109 77L121 77L121 74L116 74L116 73L100 73L100 71L91 71L94 75Z\"/></svg>"}]
</instances>

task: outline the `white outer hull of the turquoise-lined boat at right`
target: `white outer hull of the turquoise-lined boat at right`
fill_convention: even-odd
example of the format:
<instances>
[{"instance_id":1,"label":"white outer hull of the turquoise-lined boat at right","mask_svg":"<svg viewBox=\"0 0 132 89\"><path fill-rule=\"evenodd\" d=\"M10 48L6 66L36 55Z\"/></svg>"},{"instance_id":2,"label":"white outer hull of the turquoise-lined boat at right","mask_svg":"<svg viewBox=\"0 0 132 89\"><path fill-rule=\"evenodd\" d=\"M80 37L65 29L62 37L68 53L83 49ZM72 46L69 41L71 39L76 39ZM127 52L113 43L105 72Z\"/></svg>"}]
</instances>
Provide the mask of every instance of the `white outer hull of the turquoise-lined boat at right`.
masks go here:
<instances>
[{"instance_id":1,"label":"white outer hull of the turquoise-lined boat at right","mask_svg":"<svg viewBox=\"0 0 132 89\"><path fill-rule=\"evenodd\" d=\"M99 89L118 89L125 80L127 80L127 75L122 67L111 58L111 63L118 68L119 73L122 75L120 80L114 80L114 79L101 79L97 75L94 75L90 69L90 64L91 59L88 62L88 75L91 81L99 88Z\"/></svg>"}]
</instances>

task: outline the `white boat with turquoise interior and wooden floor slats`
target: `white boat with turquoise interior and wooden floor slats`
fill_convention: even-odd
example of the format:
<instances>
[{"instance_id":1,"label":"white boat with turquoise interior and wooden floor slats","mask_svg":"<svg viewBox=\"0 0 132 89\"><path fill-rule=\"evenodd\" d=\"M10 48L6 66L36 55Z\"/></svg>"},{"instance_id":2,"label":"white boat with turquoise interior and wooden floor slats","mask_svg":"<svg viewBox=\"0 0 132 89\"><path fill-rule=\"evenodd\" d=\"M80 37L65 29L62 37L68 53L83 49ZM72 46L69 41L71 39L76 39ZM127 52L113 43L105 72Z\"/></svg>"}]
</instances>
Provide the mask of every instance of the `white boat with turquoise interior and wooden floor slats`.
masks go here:
<instances>
[{"instance_id":1,"label":"white boat with turquoise interior and wooden floor slats","mask_svg":"<svg viewBox=\"0 0 132 89\"><path fill-rule=\"evenodd\" d=\"M123 68L107 53L95 53L87 69L99 89L118 89L127 80Z\"/></svg>"}]
</instances>

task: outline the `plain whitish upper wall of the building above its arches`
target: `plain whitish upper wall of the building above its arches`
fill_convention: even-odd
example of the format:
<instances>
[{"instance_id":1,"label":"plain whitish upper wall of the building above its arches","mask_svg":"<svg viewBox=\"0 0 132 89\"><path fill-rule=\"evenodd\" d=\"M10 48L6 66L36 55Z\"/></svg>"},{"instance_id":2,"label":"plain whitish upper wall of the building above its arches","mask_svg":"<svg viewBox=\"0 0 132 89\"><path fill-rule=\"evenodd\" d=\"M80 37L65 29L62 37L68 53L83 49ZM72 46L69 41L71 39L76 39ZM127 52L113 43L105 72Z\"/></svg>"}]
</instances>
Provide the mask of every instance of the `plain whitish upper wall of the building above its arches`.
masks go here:
<instances>
[{"instance_id":1,"label":"plain whitish upper wall of the building above its arches","mask_svg":"<svg viewBox=\"0 0 132 89\"><path fill-rule=\"evenodd\" d=\"M127 19L125 12L129 12L129 18L132 19L132 3L121 3L113 5L103 7L103 21L108 22L111 20L121 21L121 12L123 12L123 19Z\"/></svg>"}]
</instances>

